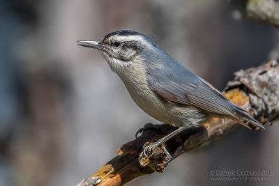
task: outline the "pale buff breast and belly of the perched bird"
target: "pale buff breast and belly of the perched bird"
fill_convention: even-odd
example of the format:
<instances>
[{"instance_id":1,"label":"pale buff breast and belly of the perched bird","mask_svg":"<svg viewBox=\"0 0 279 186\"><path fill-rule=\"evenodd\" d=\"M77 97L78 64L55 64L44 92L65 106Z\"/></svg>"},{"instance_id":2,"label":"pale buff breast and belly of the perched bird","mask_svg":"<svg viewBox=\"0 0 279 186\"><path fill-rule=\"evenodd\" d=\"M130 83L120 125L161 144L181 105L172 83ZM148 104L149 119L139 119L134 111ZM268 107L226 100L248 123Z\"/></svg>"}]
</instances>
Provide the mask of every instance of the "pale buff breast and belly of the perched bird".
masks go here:
<instances>
[{"instance_id":1,"label":"pale buff breast and belly of the perched bird","mask_svg":"<svg viewBox=\"0 0 279 186\"><path fill-rule=\"evenodd\" d=\"M133 72L137 72L136 74ZM149 116L158 121L176 126L197 127L206 120L202 111L183 107L161 99L148 86L144 72L139 70L119 74L134 102Z\"/></svg>"}]
</instances>

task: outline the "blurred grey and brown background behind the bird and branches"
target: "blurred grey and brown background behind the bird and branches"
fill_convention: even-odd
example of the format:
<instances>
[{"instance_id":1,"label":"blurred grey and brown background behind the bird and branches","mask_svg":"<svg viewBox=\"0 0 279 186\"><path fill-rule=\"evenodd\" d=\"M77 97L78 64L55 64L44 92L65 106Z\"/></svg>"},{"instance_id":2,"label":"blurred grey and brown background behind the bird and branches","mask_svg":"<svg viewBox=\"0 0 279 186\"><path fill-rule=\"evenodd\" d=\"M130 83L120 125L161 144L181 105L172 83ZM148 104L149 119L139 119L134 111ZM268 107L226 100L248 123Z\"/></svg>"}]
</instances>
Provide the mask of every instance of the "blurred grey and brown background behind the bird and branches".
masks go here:
<instances>
[{"instance_id":1,"label":"blurred grey and brown background behind the bird and branches","mask_svg":"<svg viewBox=\"0 0 279 186\"><path fill-rule=\"evenodd\" d=\"M243 1L0 0L0 185L76 185L145 123L99 52L76 40L131 29L219 90L233 72L279 57L279 31L243 18ZM244 127L127 185L278 185L278 123ZM213 182L211 170L274 172Z\"/></svg>"}]
</instances>

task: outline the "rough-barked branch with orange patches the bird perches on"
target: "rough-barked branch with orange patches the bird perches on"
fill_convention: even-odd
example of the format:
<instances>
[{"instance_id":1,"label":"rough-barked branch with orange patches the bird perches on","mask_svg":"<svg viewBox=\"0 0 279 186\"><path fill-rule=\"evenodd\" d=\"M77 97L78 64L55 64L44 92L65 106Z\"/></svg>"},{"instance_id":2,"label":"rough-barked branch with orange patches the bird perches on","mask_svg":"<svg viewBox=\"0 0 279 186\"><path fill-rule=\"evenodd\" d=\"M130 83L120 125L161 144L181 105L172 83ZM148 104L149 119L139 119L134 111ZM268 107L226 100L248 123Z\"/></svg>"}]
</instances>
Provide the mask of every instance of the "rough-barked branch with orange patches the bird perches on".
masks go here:
<instances>
[{"instance_id":1,"label":"rough-barked branch with orange patches the bird perches on","mask_svg":"<svg viewBox=\"0 0 279 186\"><path fill-rule=\"evenodd\" d=\"M235 73L235 79L227 84L224 95L234 104L248 111L265 126L278 120L279 116L279 65L269 61L258 68L249 68ZM238 127L237 123L227 118L215 118L213 123L189 129L170 139L166 143L167 150L173 159L197 148L207 141L216 139ZM252 127L252 126L251 126ZM117 156L107 162L90 178L79 185L123 185L133 178L163 172L165 166L157 166L165 162L161 148L156 148L151 157L142 155L142 147L157 141L175 130L172 125L146 124L137 139L124 144L116 150ZM257 129L256 129L257 130ZM172 159L172 160L173 160Z\"/></svg>"}]
</instances>

